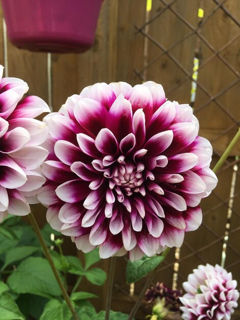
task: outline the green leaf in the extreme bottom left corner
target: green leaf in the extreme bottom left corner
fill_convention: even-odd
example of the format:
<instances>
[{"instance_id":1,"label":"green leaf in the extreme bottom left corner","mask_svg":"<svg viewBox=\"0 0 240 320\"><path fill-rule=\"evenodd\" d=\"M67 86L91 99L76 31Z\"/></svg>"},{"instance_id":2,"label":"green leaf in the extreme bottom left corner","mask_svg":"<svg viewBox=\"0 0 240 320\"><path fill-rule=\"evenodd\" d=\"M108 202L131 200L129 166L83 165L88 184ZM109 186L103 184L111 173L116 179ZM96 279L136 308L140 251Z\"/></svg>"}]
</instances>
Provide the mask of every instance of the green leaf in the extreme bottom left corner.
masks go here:
<instances>
[{"instance_id":1,"label":"green leaf in the extreme bottom left corner","mask_svg":"<svg viewBox=\"0 0 240 320\"><path fill-rule=\"evenodd\" d=\"M25 320L12 296L7 292L0 296L0 320Z\"/></svg>"}]
</instances>

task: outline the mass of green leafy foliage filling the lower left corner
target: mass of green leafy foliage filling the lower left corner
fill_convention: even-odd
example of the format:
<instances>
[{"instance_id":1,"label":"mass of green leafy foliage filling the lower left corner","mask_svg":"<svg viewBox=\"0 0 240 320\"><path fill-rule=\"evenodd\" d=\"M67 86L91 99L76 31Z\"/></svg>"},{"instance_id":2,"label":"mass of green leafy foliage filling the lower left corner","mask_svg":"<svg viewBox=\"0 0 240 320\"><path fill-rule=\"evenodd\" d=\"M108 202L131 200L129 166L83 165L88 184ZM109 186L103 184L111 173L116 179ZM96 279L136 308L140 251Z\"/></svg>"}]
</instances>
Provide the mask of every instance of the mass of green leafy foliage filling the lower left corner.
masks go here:
<instances>
[{"instance_id":1,"label":"mass of green leafy foliage filling the lower left corner","mask_svg":"<svg viewBox=\"0 0 240 320\"><path fill-rule=\"evenodd\" d=\"M94 285L104 284L106 272L93 266L100 260L98 249L85 254L83 265L77 257L63 255L60 233L48 224L41 232L81 320L97 316L88 299L98 296L77 289L83 277ZM0 225L0 243L0 320L73 319L32 227L19 217L8 216ZM71 290L66 283L68 274L76 275L77 285Z\"/></svg>"}]
</instances>

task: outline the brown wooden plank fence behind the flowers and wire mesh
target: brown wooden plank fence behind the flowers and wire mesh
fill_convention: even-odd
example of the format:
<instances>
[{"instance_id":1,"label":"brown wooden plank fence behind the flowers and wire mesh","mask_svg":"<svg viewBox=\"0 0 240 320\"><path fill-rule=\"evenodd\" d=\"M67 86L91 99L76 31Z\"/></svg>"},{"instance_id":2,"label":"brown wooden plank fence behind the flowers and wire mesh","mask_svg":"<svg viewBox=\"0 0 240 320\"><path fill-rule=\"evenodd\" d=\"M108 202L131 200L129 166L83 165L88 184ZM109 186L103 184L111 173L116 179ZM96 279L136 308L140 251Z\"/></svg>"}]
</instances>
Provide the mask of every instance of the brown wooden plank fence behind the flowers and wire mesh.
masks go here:
<instances>
[{"instance_id":1,"label":"brown wooden plank fence behind the flowers and wire mesh","mask_svg":"<svg viewBox=\"0 0 240 320\"><path fill-rule=\"evenodd\" d=\"M168 1L153 0L153 7L150 18L153 18ZM217 5L214 1L203 0L201 4L204 7L205 15L208 16L215 10ZM198 23L197 13L200 1L196 0L177 0L171 8L177 11L189 24L196 27ZM240 19L240 6L236 0L228 0L226 8L234 14L236 20ZM52 54L52 95L53 109L57 111L66 101L67 97L76 93L95 82L116 82L126 81L134 85L141 83L136 72L141 71L144 64L143 47L145 37L136 33L135 26L142 26L146 20L146 1L145 0L104 0L98 23L98 29L95 36L93 47L84 54ZM3 34L2 11L0 11L0 32ZM165 10L158 18L149 25L149 35L160 43L165 49L171 47L176 41L186 36L191 30L179 17L170 9ZM216 10L208 22L201 30L201 34L207 39L215 50L219 50L230 39L240 32L239 26L223 12ZM239 39L237 38L229 45L221 55L233 66L236 73L240 72L240 54ZM170 51L188 73L192 73L193 58L195 54L197 36L193 33ZM186 74L167 56L162 55L162 51L153 42L149 41L148 61L161 57L153 63L146 72L148 80L162 83L165 92L171 92L171 89L186 78ZM37 95L49 101L47 93L47 54L31 53L25 50L19 50L8 42L8 65L9 76L19 77L29 84L29 94ZM202 63L206 61L213 52L202 44ZM3 36L0 38L0 63L4 64L4 43ZM199 82L208 90L211 96L217 95L221 90L237 79L237 75L229 70L228 67L215 56L211 62L202 68L199 72ZM190 98L191 80L185 81L179 88L173 90L167 98L179 101L179 103L188 103ZM235 120L239 121L239 101L240 101L239 82L222 95L218 100L224 106L224 109L231 113ZM197 90L195 108L197 109L208 101L207 95L201 90ZM231 141L237 130L233 126L233 121L226 116L220 108L211 101L207 107L197 112L200 121L200 135L205 136L212 141L214 150L221 154ZM229 127L232 128L227 131ZM216 139L221 132L226 130L220 138ZM240 144L238 144L232 156L240 154ZM218 157L214 158L216 162ZM232 159L230 159L232 160ZM203 201L204 225L197 232L186 235L186 243L181 249L181 258L192 254L201 249L204 245L214 243L216 239L224 235L228 197L230 192L232 167L223 170L219 175L219 185L214 193ZM236 194L240 191L240 178L237 176ZM220 204L220 198L223 199ZM224 202L225 201L225 202ZM235 214L233 213L232 224L234 227L239 223L240 197L234 199ZM211 209L213 208L213 209ZM215 209L214 209L215 208ZM44 221L45 211L39 205L34 207L34 212L38 216L40 223ZM213 231L213 233L211 232ZM229 268L233 276L240 283L239 264L240 260L239 234L234 233L229 238L229 244L235 248L235 252L228 248L226 265L233 265ZM75 247L66 240L65 250L69 253L75 253ZM220 263L222 252L222 243L217 242L210 248L201 251L198 256L191 256L180 263L179 269L179 287L188 273L199 263L206 261L211 264ZM79 254L81 256L81 254ZM174 250L167 257L167 262L174 261ZM129 292L129 287L125 284L125 265L124 258L117 259L117 276L115 278L115 300L113 308L129 312L132 308L132 300L125 293ZM102 261L101 266L108 270L108 260ZM164 281L172 285L173 270L172 266L163 268L155 281ZM136 285L137 294L143 282ZM85 290L97 291L101 296L106 296L106 287L93 288L87 283L83 283ZM119 287L122 287L119 290ZM83 289L83 288L82 288ZM124 293L125 292L125 293ZM104 308L105 298L96 303L98 309ZM145 316L140 310L139 318Z\"/></svg>"}]
</instances>

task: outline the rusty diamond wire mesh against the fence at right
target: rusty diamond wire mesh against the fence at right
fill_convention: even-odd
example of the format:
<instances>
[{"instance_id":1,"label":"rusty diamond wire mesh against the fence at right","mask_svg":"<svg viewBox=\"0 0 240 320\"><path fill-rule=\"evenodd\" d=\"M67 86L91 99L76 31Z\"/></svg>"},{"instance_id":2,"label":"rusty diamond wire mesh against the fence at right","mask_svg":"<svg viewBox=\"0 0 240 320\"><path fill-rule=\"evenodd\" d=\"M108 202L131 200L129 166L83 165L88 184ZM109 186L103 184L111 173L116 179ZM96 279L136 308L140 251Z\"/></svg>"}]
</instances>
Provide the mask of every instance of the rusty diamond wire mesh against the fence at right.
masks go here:
<instances>
[{"instance_id":1,"label":"rusty diamond wire mesh against the fence at right","mask_svg":"<svg viewBox=\"0 0 240 320\"><path fill-rule=\"evenodd\" d=\"M192 12L185 14L184 7L186 11L191 9ZM202 19L198 18L197 10L199 8L204 9ZM234 8L236 10L233 10ZM218 145L222 144L223 139L230 142L229 139L232 138L232 133L237 131L240 124L239 103L232 106L231 101L233 100L228 99L233 92L234 95L238 95L239 100L239 19L240 7L234 5L234 0L202 0L194 2L194 5L193 2L190 3L188 0L154 0L151 15L145 24L135 26L136 34L141 34L145 41L146 39L148 41L147 60L141 70L134 70L141 81L156 79L155 81L159 82L158 67L160 65L164 68L164 64L167 64L171 68L169 73L172 73L172 78L169 76L166 82L167 85L164 86L166 88L166 97L170 98L170 100L172 97L172 100L177 100L176 97L178 97L179 90L182 90L183 95L180 95L180 99L183 101L179 101L182 103L186 103L189 100L191 82L194 81L196 83L196 101L192 105L194 106L195 114L200 117L200 128L201 124L203 124L205 131L209 135L207 138L215 146L213 148L213 162L217 162L222 153L222 148L219 148ZM223 23L221 22L222 20L224 20ZM176 28L184 28L182 36L171 43L163 33L156 32L158 28L159 30L161 29L163 23L164 30L168 30L167 28L173 29L171 23ZM214 25L215 29L213 28ZM219 30L218 27L220 25L224 29ZM148 28L146 28L147 26ZM228 36L223 31L225 28L230 32ZM173 35L171 32L169 34ZM180 46L184 48L185 44L188 50L191 51L190 54L179 55L177 50ZM193 79L194 57L199 59L198 79ZM167 69L167 67L165 68ZM221 79L224 79L224 81L217 79L219 81L218 86L211 85L211 83L214 83L214 72L212 72L214 68L219 70L218 74ZM174 83L173 79L176 75L178 79ZM239 87L238 89L237 86ZM211 119L209 120L209 112L215 118L215 128L213 130L211 128ZM205 119L207 123L205 123ZM201 134L200 131L200 135L204 135L204 132ZM233 155L236 156L238 152L239 149ZM239 272L237 272L240 263L238 236L240 231L239 170L236 172L236 185L234 193L231 195L231 201L234 201L232 217L227 220L231 176L233 166L238 162L238 159L233 156L225 162L218 174L218 187L203 201L202 226L198 231L186 234L180 258L177 261L179 263L179 271L177 272L179 288L182 282L186 280L188 273L198 264L220 264L223 243L226 241L227 222L230 222L230 225L227 226L228 242L225 266L229 271L233 272L233 277L240 283ZM159 268L156 279L171 285L175 262L173 255L167 257L164 264ZM166 270L171 270L171 272L167 273L167 279L165 277L163 279L162 276L165 275L164 271ZM139 287L135 288L136 294ZM118 291L129 295L129 288L125 284L115 284L115 292ZM238 317L234 315L232 318L236 319Z\"/></svg>"}]
</instances>

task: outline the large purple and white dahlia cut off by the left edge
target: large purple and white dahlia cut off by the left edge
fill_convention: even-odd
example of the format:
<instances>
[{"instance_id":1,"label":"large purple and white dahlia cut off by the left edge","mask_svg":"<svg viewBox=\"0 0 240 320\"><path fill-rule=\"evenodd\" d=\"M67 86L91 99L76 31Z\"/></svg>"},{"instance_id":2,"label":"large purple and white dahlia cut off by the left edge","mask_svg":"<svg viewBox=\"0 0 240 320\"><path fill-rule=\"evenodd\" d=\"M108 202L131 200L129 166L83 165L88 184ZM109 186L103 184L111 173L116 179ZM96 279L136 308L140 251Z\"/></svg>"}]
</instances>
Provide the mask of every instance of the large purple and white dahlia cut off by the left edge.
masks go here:
<instances>
[{"instance_id":1,"label":"large purple and white dahlia cut off by the left edge","mask_svg":"<svg viewBox=\"0 0 240 320\"><path fill-rule=\"evenodd\" d=\"M49 112L46 103L35 96L22 99L26 82L2 78L0 66L0 222L7 213L27 215L27 201L36 202L36 189L45 178L39 167L48 151L39 145L47 138L45 123L33 119ZM21 100L22 99L22 100Z\"/></svg>"}]
</instances>

